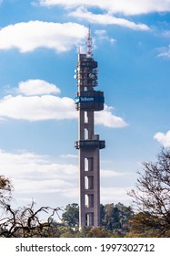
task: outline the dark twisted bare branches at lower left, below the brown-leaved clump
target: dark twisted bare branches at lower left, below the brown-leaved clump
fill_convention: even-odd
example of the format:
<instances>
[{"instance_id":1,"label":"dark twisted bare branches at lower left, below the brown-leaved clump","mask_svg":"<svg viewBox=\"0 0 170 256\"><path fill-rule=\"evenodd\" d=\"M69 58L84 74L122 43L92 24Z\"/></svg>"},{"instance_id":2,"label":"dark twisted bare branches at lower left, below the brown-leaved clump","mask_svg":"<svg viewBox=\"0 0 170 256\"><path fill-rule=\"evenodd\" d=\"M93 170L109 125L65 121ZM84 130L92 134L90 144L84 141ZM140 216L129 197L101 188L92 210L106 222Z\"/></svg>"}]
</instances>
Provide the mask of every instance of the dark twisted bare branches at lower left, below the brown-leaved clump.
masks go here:
<instances>
[{"instance_id":1,"label":"dark twisted bare branches at lower left, below the brown-leaved clump","mask_svg":"<svg viewBox=\"0 0 170 256\"><path fill-rule=\"evenodd\" d=\"M59 208L42 207L35 210L35 203L30 207L13 209L5 204L5 217L0 219L0 237L5 238L48 238L57 237L57 226L53 216ZM40 213L46 213L46 220L39 219Z\"/></svg>"}]
</instances>

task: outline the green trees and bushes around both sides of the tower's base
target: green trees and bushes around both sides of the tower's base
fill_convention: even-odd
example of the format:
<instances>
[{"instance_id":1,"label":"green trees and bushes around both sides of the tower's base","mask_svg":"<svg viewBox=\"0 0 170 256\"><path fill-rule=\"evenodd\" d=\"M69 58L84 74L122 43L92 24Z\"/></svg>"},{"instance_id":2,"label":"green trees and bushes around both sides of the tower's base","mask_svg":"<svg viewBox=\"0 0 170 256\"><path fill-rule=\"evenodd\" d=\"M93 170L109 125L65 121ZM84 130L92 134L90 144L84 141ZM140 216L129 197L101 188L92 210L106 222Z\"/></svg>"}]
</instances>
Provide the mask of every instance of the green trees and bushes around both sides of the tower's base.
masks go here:
<instances>
[{"instance_id":1,"label":"green trees and bushes around both sides of the tower's base","mask_svg":"<svg viewBox=\"0 0 170 256\"><path fill-rule=\"evenodd\" d=\"M84 227L81 231L76 233L77 237L124 237L125 233L129 231L129 219L134 216L134 212L131 207L125 207L125 205L118 204L106 204L100 205L101 209L101 226L102 229L92 229ZM65 212L62 216L66 226L71 228L78 228L78 204L69 204L65 208Z\"/></svg>"}]
</instances>

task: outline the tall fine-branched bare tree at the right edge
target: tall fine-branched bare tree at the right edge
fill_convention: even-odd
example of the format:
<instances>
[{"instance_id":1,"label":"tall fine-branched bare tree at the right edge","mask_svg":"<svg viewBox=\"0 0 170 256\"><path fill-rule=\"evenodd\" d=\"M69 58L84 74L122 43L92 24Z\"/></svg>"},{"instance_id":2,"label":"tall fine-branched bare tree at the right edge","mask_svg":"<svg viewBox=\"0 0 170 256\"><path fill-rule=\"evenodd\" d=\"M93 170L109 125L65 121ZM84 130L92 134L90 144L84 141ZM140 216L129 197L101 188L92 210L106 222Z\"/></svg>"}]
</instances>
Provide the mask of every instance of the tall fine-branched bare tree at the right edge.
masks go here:
<instances>
[{"instance_id":1,"label":"tall fine-branched bare tree at the right edge","mask_svg":"<svg viewBox=\"0 0 170 256\"><path fill-rule=\"evenodd\" d=\"M170 149L163 148L156 162L144 162L144 172L138 173L137 185L129 195L134 198L139 213L134 225L153 236L166 236L170 232ZM144 230L145 229L145 230Z\"/></svg>"}]
</instances>

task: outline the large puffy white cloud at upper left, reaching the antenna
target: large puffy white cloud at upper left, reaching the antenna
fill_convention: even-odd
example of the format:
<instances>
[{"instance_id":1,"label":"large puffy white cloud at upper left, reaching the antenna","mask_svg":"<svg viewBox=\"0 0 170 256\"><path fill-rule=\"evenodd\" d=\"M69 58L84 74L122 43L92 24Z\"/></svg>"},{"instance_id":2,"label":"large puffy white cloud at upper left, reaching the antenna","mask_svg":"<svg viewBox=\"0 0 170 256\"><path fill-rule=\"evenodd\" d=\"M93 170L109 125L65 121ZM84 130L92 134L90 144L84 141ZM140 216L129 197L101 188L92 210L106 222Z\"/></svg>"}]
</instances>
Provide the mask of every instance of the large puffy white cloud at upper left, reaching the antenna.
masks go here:
<instances>
[{"instance_id":1,"label":"large puffy white cloud at upper left, reaching the antenna","mask_svg":"<svg viewBox=\"0 0 170 256\"><path fill-rule=\"evenodd\" d=\"M0 49L18 48L24 53L36 48L52 48L65 52L80 46L86 35L87 28L76 23L22 22L0 30Z\"/></svg>"}]
</instances>

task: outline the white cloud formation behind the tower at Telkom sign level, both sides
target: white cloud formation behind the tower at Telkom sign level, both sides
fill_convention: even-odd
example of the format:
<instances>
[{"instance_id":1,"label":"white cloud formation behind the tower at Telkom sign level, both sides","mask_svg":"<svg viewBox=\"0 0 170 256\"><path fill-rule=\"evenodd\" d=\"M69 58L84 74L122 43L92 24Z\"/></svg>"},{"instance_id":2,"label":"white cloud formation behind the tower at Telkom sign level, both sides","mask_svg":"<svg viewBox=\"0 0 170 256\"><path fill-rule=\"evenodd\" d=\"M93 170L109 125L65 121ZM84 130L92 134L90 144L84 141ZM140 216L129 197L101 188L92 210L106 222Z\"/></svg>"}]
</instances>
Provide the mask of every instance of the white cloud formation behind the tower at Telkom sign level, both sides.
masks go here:
<instances>
[{"instance_id":1,"label":"white cloud formation behind the tower at Telkom sign level, both sides","mask_svg":"<svg viewBox=\"0 0 170 256\"><path fill-rule=\"evenodd\" d=\"M75 101L68 97L48 95L60 92L45 80L26 80L19 83L15 90L18 95L6 95L0 99L0 118L12 118L37 122L43 120L76 119ZM115 116L113 108L105 105L105 110L95 113L95 123L106 127L121 128L127 124Z\"/></svg>"}]
</instances>

